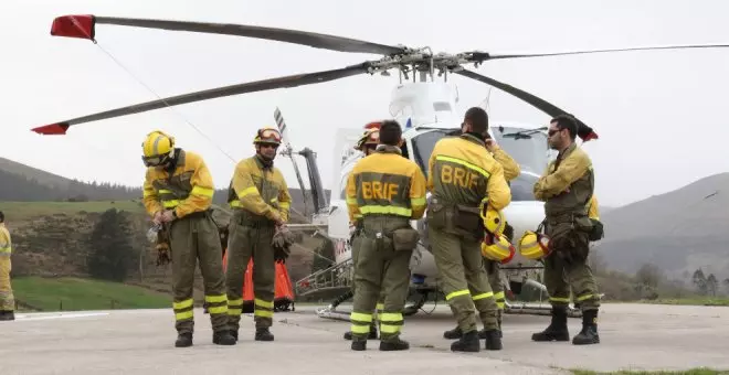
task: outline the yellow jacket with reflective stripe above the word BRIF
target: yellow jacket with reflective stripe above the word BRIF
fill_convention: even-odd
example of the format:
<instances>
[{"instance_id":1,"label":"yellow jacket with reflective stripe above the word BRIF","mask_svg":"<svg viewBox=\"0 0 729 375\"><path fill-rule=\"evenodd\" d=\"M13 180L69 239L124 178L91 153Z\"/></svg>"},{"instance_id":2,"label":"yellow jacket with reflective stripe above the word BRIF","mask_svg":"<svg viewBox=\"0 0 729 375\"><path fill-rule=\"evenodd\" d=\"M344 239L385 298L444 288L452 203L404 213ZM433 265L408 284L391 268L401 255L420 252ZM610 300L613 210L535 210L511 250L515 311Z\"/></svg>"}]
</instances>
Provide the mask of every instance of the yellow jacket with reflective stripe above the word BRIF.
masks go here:
<instances>
[{"instance_id":1,"label":"yellow jacket with reflective stripe above the word BRIF","mask_svg":"<svg viewBox=\"0 0 729 375\"><path fill-rule=\"evenodd\" d=\"M453 204L488 205L504 210L511 203L511 190L504 167L472 135L443 138L429 160L427 190Z\"/></svg>"}]
</instances>

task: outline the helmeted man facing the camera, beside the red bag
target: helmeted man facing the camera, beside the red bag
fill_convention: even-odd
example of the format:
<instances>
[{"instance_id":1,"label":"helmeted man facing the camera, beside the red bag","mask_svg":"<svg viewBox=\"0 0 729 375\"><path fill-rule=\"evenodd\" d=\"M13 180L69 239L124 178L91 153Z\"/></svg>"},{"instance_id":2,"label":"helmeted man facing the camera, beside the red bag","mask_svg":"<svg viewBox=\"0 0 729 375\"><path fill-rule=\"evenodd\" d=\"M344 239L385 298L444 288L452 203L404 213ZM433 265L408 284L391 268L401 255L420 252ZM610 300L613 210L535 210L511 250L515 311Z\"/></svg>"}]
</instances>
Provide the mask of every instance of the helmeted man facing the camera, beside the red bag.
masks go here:
<instances>
[{"instance_id":1,"label":"helmeted man facing the camera, beside the red bag","mask_svg":"<svg viewBox=\"0 0 729 375\"><path fill-rule=\"evenodd\" d=\"M281 171L274 167L281 146L278 129L258 129L253 139L255 156L235 165L228 194L233 207L229 225L226 285L229 324L235 340L243 310L243 281L253 257L253 293L256 341L273 341L273 308L276 265L273 237L288 222L292 197Z\"/></svg>"}]
</instances>

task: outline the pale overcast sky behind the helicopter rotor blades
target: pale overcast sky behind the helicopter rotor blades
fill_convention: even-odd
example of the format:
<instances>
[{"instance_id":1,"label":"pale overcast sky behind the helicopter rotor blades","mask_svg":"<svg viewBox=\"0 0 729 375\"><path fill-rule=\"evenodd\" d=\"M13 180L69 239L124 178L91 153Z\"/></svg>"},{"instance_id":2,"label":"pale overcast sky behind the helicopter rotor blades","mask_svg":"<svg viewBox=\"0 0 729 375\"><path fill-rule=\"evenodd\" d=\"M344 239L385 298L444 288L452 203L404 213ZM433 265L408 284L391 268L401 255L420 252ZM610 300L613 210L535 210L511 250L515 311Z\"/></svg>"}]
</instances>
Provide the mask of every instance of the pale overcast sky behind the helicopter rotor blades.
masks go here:
<instances>
[{"instance_id":1,"label":"pale overcast sky behind the helicopter rotor blades","mask_svg":"<svg viewBox=\"0 0 729 375\"><path fill-rule=\"evenodd\" d=\"M252 154L257 128L278 106L295 147L332 157L337 128L388 117L391 77L359 76L254 93L72 127L64 137L31 132L95 111L156 99L104 51L159 95L177 95L377 60L278 42L99 25L91 41L53 38L53 18L94 13L247 23L339 34L434 52L553 52L642 45L729 43L726 1L187 1L0 2L0 156L84 181L140 185L140 142L160 128L201 153L216 188ZM104 50L102 50L104 49ZM600 135L589 142L602 204L623 205L729 170L729 49L626 52L494 61L477 72L579 116ZM454 77L462 114L488 86ZM180 115L182 117L180 117ZM497 89L493 120L547 125L549 117ZM203 138L184 119L212 139ZM63 156L63 157L62 157ZM304 162L299 165L304 168ZM296 186L290 162L278 165ZM330 163L320 163L326 188Z\"/></svg>"}]
</instances>

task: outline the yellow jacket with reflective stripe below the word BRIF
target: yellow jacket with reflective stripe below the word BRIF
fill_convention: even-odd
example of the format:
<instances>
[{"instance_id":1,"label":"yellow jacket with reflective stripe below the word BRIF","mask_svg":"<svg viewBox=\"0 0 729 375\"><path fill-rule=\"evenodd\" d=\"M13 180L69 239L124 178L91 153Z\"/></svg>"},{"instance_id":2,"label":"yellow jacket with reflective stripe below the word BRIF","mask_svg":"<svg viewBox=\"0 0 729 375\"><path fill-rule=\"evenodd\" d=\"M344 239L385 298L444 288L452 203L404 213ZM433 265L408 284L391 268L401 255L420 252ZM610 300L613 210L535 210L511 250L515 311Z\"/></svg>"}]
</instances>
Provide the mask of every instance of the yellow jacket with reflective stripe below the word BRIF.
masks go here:
<instances>
[{"instance_id":1,"label":"yellow jacket with reflective stripe below the word BRIF","mask_svg":"<svg viewBox=\"0 0 729 375\"><path fill-rule=\"evenodd\" d=\"M349 221L368 214L392 214L411 219L425 212L425 176L403 158L400 149L379 146L360 159L347 178Z\"/></svg>"}]
</instances>

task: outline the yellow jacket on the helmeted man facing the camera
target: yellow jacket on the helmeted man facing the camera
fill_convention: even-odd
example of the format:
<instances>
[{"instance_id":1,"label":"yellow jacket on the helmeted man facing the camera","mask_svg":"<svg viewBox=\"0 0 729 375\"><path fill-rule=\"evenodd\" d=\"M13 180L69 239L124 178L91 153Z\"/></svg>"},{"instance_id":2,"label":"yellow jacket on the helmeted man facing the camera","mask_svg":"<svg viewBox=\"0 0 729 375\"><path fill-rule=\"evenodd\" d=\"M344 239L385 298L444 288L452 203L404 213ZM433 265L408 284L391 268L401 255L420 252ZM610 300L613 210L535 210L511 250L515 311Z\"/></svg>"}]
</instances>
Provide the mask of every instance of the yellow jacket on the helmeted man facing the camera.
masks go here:
<instances>
[{"instance_id":1,"label":"yellow jacket on the helmeted man facing the camera","mask_svg":"<svg viewBox=\"0 0 729 375\"><path fill-rule=\"evenodd\" d=\"M235 165L228 202L257 216L288 222L292 196L281 171L275 167L264 169L254 156Z\"/></svg>"}]
</instances>

